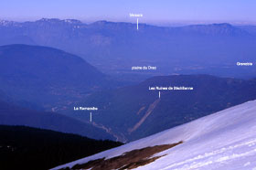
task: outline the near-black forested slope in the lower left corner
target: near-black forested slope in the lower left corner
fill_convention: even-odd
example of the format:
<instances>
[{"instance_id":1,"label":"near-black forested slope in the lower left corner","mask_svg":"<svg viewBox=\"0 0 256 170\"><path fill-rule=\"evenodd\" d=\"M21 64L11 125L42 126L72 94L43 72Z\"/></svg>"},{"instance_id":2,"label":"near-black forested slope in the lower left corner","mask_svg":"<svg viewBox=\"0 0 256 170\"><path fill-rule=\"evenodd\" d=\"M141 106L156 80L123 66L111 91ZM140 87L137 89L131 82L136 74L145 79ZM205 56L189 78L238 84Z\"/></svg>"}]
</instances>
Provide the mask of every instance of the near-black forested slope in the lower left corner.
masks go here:
<instances>
[{"instance_id":1,"label":"near-black forested slope in the lower left corner","mask_svg":"<svg viewBox=\"0 0 256 170\"><path fill-rule=\"evenodd\" d=\"M76 134L0 125L0 169L45 170L119 145Z\"/></svg>"}]
</instances>

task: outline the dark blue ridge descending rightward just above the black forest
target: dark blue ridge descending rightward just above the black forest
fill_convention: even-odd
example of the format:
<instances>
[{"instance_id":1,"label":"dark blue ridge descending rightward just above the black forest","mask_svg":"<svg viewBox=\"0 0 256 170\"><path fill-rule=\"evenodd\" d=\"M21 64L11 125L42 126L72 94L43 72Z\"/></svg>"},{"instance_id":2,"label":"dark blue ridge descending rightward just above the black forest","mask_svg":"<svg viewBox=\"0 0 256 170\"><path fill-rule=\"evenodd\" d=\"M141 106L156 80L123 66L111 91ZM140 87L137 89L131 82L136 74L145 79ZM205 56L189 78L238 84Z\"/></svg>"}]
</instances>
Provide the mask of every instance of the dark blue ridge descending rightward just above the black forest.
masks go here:
<instances>
[{"instance_id":1,"label":"dark blue ridge descending rightward just above the black forest","mask_svg":"<svg viewBox=\"0 0 256 170\"><path fill-rule=\"evenodd\" d=\"M89 123L80 122L57 112L33 111L10 104L0 99L0 124L27 125L35 128L59 131L62 133L76 133L94 139L112 139L112 134Z\"/></svg>"}]
</instances>

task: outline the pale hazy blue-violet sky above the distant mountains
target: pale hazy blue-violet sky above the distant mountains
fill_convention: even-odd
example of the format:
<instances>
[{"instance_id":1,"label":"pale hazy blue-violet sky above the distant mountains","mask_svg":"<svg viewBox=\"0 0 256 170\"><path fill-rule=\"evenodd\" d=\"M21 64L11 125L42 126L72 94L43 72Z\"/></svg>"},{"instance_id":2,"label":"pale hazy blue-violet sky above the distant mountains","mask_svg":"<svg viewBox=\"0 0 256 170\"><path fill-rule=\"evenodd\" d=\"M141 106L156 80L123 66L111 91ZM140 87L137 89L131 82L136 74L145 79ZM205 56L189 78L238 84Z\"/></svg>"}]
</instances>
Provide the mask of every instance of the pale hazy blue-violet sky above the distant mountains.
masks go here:
<instances>
[{"instance_id":1,"label":"pale hazy blue-violet sky above the distant mountains","mask_svg":"<svg viewBox=\"0 0 256 170\"><path fill-rule=\"evenodd\" d=\"M36 20L42 17L82 21L256 22L256 0L0 0L0 19Z\"/></svg>"}]
</instances>

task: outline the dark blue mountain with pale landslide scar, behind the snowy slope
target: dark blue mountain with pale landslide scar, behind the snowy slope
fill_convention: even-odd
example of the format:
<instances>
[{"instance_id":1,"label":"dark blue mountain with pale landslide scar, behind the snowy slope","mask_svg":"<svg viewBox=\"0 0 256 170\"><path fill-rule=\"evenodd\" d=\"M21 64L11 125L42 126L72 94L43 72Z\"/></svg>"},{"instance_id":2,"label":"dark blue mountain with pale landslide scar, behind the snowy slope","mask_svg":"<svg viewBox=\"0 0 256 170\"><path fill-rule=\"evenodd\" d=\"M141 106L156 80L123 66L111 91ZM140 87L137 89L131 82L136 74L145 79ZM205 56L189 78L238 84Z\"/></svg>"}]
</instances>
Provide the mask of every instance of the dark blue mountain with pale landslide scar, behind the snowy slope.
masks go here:
<instances>
[{"instance_id":1,"label":"dark blue mountain with pale landslide scar, behind the snowy slope","mask_svg":"<svg viewBox=\"0 0 256 170\"><path fill-rule=\"evenodd\" d=\"M193 90L149 90L150 87L193 87ZM161 92L159 98L159 91ZM133 141L256 99L256 80L208 75L154 77L144 82L91 94L78 105L93 105L93 122ZM71 113L89 122L84 112Z\"/></svg>"}]
</instances>

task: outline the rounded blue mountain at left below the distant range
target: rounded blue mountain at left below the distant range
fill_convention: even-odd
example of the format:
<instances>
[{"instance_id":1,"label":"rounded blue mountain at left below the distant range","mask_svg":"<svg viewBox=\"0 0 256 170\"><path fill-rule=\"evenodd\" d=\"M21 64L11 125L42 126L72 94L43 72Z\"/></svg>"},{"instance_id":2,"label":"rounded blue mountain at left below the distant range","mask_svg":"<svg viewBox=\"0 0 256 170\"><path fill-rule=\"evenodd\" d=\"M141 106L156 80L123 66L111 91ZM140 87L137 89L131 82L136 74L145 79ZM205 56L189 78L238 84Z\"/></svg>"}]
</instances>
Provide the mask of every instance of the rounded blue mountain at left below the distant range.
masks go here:
<instances>
[{"instance_id":1,"label":"rounded blue mountain at left below the distant range","mask_svg":"<svg viewBox=\"0 0 256 170\"><path fill-rule=\"evenodd\" d=\"M101 71L56 48L1 46L0 70L0 89L10 98L48 105L48 111L61 98L76 101L91 90L109 87L109 80Z\"/></svg>"}]
</instances>

